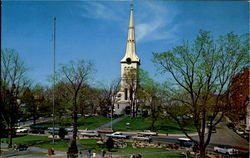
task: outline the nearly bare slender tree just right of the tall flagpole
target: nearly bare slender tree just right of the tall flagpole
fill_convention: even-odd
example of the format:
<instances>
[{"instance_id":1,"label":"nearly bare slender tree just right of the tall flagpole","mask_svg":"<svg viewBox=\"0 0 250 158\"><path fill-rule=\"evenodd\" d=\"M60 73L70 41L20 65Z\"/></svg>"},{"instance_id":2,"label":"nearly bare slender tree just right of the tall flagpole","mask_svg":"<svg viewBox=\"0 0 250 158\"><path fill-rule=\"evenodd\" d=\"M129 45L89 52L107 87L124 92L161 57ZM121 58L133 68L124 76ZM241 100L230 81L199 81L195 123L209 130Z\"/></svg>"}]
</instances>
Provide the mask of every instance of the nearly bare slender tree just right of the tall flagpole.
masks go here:
<instances>
[{"instance_id":1,"label":"nearly bare slender tree just right of the tall flagpole","mask_svg":"<svg viewBox=\"0 0 250 158\"><path fill-rule=\"evenodd\" d=\"M79 106L79 93L85 89L84 85L93 71L93 64L90 61L71 61L69 64L61 65L58 72L58 80L65 83L65 88L69 92L69 102L73 107L73 139L68 152L74 155L78 152L76 146L77 137L77 111Z\"/></svg>"}]
</instances>

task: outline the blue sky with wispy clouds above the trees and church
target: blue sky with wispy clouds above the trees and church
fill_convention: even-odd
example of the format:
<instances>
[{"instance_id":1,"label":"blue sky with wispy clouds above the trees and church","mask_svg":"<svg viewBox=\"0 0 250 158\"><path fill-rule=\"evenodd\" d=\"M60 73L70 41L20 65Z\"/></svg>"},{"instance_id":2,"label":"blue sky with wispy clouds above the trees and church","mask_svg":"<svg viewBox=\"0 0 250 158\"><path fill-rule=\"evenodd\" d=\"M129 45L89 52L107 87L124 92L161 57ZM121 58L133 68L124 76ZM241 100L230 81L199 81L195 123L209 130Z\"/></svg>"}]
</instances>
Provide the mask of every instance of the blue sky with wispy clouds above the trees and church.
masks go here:
<instances>
[{"instance_id":1,"label":"blue sky with wispy clouds above the trees and church","mask_svg":"<svg viewBox=\"0 0 250 158\"><path fill-rule=\"evenodd\" d=\"M199 30L216 38L249 32L247 1L9 1L2 5L2 48L17 50L34 83L50 85L53 73L53 17L56 17L56 69L71 60L91 60L91 82L110 83L120 76L125 55L129 4L133 3L137 56L157 81L152 52L167 51Z\"/></svg>"}]
</instances>

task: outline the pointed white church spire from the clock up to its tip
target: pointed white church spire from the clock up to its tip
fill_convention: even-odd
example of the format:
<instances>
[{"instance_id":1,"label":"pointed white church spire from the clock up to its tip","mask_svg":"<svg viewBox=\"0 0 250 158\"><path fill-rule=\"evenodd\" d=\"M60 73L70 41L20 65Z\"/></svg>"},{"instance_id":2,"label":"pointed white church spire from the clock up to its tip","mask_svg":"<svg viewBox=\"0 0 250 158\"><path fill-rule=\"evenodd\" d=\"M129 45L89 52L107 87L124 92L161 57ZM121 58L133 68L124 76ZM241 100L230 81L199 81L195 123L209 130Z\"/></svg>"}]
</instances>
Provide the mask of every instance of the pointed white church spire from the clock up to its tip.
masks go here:
<instances>
[{"instance_id":1,"label":"pointed white church spire from the clock up to its tip","mask_svg":"<svg viewBox=\"0 0 250 158\"><path fill-rule=\"evenodd\" d=\"M135 62L135 63L140 64L140 59L136 55L135 27L134 27L134 13L133 12L134 12L134 9L131 7L126 53L125 53L125 56L122 58L121 63Z\"/></svg>"}]
</instances>

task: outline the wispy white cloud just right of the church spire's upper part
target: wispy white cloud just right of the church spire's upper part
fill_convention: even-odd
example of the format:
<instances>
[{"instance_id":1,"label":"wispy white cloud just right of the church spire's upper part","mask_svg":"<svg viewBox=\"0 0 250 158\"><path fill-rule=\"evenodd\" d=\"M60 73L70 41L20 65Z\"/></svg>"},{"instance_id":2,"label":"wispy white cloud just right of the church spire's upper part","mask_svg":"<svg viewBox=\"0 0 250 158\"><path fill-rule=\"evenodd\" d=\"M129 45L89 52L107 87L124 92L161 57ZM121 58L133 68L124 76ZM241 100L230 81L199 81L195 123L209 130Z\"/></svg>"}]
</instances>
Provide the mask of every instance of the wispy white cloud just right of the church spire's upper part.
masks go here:
<instances>
[{"instance_id":1,"label":"wispy white cloud just right of the church spire's upper part","mask_svg":"<svg viewBox=\"0 0 250 158\"><path fill-rule=\"evenodd\" d=\"M166 4L166 3L165 3ZM161 3L145 3L146 15L139 18L136 27L137 42L146 42L161 39L175 39L178 26L172 25L178 11ZM137 13L135 16L140 16ZM169 26L168 26L169 25Z\"/></svg>"}]
</instances>

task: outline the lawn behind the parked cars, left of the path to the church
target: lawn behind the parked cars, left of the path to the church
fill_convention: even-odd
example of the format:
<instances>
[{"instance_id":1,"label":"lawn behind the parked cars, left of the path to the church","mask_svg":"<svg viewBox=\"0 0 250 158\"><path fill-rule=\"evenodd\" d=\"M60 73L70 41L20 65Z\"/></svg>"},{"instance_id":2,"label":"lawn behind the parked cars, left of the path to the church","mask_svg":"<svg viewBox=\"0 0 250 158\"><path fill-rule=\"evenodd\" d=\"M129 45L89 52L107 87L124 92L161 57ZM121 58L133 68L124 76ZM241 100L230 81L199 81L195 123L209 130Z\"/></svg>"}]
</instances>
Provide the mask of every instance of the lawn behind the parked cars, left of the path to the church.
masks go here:
<instances>
[{"instance_id":1,"label":"lawn behind the parked cars, left of the path to the church","mask_svg":"<svg viewBox=\"0 0 250 158\"><path fill-rule=\"evenodd\" d=\"M101 125L109 122L110 119L103 116L96 117L80 117L78 118L78 129L95 129ZM72 125L72 118L62 118L55 120L56 127L68 128ZM52 121L40 123L39 125L45 126L46 128L52 127Z\"/></svg>"}]
</instances>

